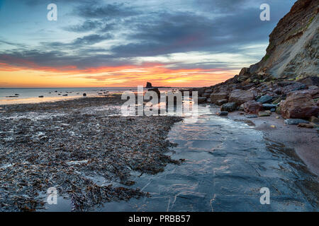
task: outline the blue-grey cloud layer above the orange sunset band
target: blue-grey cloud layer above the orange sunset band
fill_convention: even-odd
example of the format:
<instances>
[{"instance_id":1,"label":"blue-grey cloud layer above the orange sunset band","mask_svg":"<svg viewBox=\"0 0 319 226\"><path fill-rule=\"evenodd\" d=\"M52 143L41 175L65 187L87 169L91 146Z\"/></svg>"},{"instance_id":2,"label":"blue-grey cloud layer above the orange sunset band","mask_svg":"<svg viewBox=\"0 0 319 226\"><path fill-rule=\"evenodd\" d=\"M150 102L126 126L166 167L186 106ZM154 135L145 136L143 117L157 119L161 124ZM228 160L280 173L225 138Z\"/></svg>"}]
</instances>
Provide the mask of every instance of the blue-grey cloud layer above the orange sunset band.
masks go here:
<instances>
[{"instance_id":1,"label":"blue-grey cloud layer above the orange sunset band","mask_svg":"<svg viewBox=\"0 0 319 226\"><path fill-rule=\"evenodd\" d=\"M55 32L55 36L45 40L40 40L32 28L47 29L48 24L33 21L26 22L30 32L21 37L11 37L21 34L19 26L13 32L6 31L6 36L1 34L0 69L11 64L37 69L72 66L81 71L140 65L150 59L174 69L174 73L178 69L239 69L262 57L264 52L258 54L243 47L267 44L269 33L289 10L287 3L291 1L269 0L272 20L263 22L259 20L259 0L136 0L113 4L57 0L60 16L70 22L62 24L59 18L57 23L50 23L52 32L48 33ZM43 4L36 0L25 2L28 6ZM37 42L28 42L30 37ZM67 40L69 37L72 40Z\"/></svg>"}]
</instances>

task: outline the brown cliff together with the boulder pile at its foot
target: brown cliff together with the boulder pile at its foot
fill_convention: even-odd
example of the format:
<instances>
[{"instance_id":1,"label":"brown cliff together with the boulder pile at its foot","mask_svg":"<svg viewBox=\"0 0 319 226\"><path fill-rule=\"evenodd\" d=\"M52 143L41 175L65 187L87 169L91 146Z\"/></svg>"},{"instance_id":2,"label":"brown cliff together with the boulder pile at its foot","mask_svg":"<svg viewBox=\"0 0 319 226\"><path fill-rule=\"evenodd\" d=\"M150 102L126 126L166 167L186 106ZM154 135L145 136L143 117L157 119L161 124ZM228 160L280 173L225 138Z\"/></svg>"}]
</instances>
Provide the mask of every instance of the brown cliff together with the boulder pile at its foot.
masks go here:
<instances>
[{"instance_id":1,"label":"brown cliff together with the boulder pile at its foot","mask_svg":"<svg viewBox=\"0 0 319 226\"><path fill-rule=\"evenodd\" d=\"M228 81L192 91L198 91L201 102L219 105L223 112L241 110L259 117L276 112L284 119L318 123L318 11L318 1L296 1L269 35L262 61Z\"/></svg>"}]
</instances>

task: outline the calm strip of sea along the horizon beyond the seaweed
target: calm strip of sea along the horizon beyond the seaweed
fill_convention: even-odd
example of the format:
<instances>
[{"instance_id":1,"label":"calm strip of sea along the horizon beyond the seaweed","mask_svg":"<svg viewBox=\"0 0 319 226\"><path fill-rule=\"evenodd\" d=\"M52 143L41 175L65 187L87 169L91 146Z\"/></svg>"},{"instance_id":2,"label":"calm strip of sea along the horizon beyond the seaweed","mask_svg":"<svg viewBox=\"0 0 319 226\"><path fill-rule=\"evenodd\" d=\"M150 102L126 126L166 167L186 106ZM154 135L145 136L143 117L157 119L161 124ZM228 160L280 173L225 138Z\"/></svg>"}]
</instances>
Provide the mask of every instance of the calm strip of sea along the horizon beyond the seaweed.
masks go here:
<instances>
[{"instance_id":1,"label":"calm strip of sea along the horizon beyond the seaweed","mask_svg":"<svg viewBox=\"0 0 319 226\"><path fill-rule=\"evenodd\" d=\"M0 88L0 105L66 100L83 97L83 93L86 93L87 97L95 97L107 93L123 93L126 90L134 92L138 88L136 86L117 88ZM159 90L172 89L160 88Z\"/></svg>"}]
</instances>

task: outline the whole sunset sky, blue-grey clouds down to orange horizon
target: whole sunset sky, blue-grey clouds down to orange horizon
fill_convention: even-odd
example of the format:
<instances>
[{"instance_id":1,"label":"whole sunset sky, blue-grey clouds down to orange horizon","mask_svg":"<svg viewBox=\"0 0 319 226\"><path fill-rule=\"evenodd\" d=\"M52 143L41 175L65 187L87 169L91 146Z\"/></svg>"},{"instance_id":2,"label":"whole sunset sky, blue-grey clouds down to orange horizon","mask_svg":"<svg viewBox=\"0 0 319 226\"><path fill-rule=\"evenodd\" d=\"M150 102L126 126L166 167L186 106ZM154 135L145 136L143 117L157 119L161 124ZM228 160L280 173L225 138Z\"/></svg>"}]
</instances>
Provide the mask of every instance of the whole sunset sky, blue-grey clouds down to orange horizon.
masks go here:
<instances>
[{"instance_id":1,"label":"whole sunset sky, blue-grey clouds down to orange horizon","mask_svg":"<svg viewBox=\"0 0 319 226\"><path fill-rule=\"evenodd\" d=\"M264 57L294 2L0 0L0 87L214 85Z\"/></svg>"}]
</instances>

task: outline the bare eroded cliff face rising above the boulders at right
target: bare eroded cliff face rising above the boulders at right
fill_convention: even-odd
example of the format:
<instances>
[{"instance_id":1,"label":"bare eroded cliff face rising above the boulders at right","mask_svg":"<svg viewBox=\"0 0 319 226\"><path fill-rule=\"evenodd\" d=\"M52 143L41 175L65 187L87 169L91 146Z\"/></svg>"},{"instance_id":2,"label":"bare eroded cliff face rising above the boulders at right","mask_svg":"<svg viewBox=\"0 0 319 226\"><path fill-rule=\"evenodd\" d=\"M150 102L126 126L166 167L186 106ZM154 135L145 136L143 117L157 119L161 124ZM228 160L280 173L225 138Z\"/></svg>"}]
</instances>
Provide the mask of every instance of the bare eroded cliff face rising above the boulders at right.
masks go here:
<instances>
[{"instance_id":1,"label":"bare eroded cliff face rising above the boulders at right","mask_svg":"<svg viewBox=\"0 0 319 226\"><path fill-rule=\"evenodd\" d=\"M319 0L298 0L269 35L267 54L250 73L275 78L318 76Z\"/></svg>"}]
</instances>

